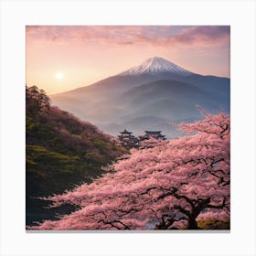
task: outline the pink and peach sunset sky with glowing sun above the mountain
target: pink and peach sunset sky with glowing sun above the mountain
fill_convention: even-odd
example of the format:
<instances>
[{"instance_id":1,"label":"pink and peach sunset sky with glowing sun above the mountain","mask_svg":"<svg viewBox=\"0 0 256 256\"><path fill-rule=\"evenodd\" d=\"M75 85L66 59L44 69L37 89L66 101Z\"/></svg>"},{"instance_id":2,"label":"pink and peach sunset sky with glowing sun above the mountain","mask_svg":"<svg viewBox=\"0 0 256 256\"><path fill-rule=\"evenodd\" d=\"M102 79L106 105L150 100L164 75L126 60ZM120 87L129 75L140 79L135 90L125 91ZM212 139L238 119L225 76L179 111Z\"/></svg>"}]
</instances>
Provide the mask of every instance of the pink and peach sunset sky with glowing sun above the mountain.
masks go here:
<instances>
[{"instance_id":1,"label":"pink and peach sunset sky with glowing sun above the mountain","mask_svg":"<svg viewBox=\"0 0 256 256\"><path fill-rule=\"evenodd\" d=\"M229 36L228 26L27 26L26 83L70 91L155 56L229 77Z\"/></svg>"}]
</instances>

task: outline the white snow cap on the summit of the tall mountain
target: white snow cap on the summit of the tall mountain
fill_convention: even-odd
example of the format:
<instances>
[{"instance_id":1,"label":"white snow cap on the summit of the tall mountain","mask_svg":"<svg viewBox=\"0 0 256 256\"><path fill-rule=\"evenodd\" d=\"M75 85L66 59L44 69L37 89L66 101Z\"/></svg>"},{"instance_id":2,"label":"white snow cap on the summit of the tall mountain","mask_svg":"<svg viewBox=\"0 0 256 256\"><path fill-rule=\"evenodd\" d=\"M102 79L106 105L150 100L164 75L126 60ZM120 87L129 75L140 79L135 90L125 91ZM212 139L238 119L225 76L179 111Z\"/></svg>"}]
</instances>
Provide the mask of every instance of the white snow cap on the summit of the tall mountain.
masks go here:
<instances>
[{"instance_id":1,"label":"white snow cap on the summit of the tall mountain","mask_svg":"<svg viewBox=\"0 0 256 256\"><path fill-rule=\"evenodd\" d=\"M146 59L141 65L135 66L132 69L128 69L119 75L124 76L140 74L158 74L165 72L174 73L176 75L181 76L187 76L192 74L192 72L177 66L175 63L171 61L168 61L161 57L154 57Z\"/></svg>"}]
</instances>

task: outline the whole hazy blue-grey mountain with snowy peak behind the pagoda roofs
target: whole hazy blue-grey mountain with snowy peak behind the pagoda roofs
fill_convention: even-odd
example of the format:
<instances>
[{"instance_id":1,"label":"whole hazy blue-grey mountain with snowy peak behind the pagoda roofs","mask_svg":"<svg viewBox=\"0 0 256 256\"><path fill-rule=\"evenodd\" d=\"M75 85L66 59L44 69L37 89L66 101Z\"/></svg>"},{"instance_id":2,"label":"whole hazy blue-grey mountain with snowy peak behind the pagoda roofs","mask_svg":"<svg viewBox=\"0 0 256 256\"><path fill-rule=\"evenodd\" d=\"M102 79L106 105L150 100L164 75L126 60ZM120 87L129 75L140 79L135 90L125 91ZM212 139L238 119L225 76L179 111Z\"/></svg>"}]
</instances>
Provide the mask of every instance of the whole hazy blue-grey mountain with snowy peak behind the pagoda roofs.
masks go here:
<instances>
[{"instance_id":1,"label":"whole hazy blue-grey mountain with snowy peak behind the pagoda roofs","mask_svg":"<svg viewBox=\"0 0 256 256\"><path fill-rule=\"evenodd\" d=\"M154 57L90 86L50 97L53 104L105 133L161 130L171 138L178 134L171 123L202 117L197 105L208 112L229 113L229 91L228 78L202 76Z\"/></svg>"}]
</instances>

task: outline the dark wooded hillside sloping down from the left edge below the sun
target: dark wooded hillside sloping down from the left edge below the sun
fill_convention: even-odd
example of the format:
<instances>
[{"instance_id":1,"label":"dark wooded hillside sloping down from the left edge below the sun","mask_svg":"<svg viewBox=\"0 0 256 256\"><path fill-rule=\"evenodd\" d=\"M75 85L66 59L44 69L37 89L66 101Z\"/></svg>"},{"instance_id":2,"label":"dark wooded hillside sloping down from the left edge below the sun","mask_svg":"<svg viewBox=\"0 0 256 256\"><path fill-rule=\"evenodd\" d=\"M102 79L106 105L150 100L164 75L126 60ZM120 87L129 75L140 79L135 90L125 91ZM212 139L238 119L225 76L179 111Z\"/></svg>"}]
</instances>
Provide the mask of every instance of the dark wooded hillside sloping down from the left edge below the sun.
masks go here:
<instances>
[{"instance_id":1,"label":"dark wooded hillside sloping down from the left edge below the sun","mask_svg":"<svg viewBox=\"0 0 256 256\"><path fill-rule=\"evenodd\" d=\"M50 106L37 87L26 91L27 223L46 212L33 197L61 193L101 176L102 165L123 155L112 136L91 123Z\"/></svg>"}]
</instances>

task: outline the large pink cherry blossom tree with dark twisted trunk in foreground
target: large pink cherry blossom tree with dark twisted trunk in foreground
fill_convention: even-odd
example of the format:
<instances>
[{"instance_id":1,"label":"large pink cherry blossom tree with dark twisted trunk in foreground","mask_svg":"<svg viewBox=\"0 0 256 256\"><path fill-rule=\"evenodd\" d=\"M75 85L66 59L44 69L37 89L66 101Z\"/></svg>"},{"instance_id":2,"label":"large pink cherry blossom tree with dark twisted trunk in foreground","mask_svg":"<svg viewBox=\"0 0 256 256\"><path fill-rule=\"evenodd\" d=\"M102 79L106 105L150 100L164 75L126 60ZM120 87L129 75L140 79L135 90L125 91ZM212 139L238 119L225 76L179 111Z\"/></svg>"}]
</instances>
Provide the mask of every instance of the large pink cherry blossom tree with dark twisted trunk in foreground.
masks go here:
<instances>
[{"instance_id":1,"label":"large pink cherry blossom tree with dark twisted trunk in foreground","mask_svg":"<svg viewBox=\"0 0 256 256\"><path fill-rule=\"evenodd\" d=\"M178 125L190 135L132 149L91 184L44 198L80 208L28 229L197 229L198 219L229 220L229 116L203 113Z\"/></svg>"}]
</instances>

